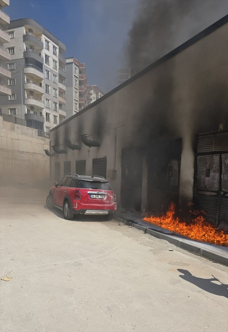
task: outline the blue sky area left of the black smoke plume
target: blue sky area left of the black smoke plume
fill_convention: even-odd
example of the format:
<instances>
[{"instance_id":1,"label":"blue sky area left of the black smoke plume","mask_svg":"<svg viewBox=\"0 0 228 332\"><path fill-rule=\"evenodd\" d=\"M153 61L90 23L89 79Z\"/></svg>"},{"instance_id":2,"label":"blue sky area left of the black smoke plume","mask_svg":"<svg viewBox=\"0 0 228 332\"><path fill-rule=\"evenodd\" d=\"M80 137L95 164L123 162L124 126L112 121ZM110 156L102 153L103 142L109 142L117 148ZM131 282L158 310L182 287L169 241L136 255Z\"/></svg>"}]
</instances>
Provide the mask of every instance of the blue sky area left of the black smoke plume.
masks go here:
<instances>
[{"instance_id":1,"label":"blue sky area left of the black smoke plume","mask_svg":"<svg viewBox=\"0 0 228 332\"><path fill-rule=\"evenodd\" d=\"M10 20L32 18L67 46L66 57L86 64L89 84L104 92L117 85L123 45L136 0L10 0Z\"/></svg>"}]
</instances>

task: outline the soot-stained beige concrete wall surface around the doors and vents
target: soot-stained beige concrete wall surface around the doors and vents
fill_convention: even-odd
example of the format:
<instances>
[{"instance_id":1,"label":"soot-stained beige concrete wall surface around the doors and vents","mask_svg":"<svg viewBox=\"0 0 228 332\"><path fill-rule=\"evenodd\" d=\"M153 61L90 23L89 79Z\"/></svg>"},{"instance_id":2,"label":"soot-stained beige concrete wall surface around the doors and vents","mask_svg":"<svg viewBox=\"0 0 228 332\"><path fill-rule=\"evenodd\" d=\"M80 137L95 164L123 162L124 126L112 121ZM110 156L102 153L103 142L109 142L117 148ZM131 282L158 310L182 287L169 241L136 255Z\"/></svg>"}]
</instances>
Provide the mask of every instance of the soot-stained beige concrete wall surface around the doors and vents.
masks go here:
<instances>
[{"instance_id":1,"label":"soot-stained beige concrete wall surface around the doors and vents","mask_svg":"<svg viewBox=\"0 0 228 332\"><path fill-rule=\"evenodd\" d=\"M119 202L122 148L137 145L146 151L154 140L182 138L179 200L181 204L191 201L195 136L217 131L219 123L228 118L227 25L204 32L198 41L52 129L51 145L67 149L67 154L51 157L52 181L55 162L61 163L63 177L64 161L71 161L71 172L75 172L75 160L86 159L86 174L91 175L93 158L107 156L107 169L114 168L115 158L116 178L109 180ZM82 134L99 140L101 146L83 145ZM81 150L68 149L66 139L81 144ZM144 188L146 182L147 178ZM146 204L144 193L142 208Z\"/></svg>"}]
</instances>

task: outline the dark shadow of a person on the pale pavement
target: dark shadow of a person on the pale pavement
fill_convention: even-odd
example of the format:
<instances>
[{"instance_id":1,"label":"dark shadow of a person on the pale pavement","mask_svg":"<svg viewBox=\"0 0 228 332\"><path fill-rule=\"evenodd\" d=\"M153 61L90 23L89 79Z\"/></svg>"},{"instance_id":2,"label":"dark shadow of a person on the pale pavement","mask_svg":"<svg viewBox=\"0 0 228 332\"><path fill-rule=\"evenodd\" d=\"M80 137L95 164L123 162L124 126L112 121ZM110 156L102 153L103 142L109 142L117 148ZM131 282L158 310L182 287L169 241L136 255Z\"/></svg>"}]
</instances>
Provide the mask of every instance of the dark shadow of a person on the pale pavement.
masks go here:
<instances>
[{"instance_id":1,"label":"dark shadow of a person on the pale pavement","mask_svg":"<svg viewBox=\"0 0 228 332\"><path fill-rule=\"evenodd\" d=\"M209 293L224 296L228 298L228 285L221 283L217 278L212 276L213 278L204 279L193 276L188 270L177 269L178 272L183 273L183 275L179 275L180 278L196 285L202 290L208 291ZM220 285L213 283L213 281L218 281Z\"/></svg>"}]
</instances>

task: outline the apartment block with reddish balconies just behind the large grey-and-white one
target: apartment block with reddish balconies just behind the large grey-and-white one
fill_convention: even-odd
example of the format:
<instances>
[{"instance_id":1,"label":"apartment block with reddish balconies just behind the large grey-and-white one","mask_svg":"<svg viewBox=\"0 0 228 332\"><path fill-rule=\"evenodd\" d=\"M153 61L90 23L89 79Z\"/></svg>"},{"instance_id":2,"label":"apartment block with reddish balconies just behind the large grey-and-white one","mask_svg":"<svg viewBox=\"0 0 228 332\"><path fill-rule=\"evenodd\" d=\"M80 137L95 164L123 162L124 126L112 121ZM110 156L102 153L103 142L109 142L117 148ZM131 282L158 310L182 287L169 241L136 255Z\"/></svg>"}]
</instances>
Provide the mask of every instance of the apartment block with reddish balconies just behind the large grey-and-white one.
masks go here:
<instances>
[{"instance_id":1,"label":"apartment block with reddish balconies just behind the large grey-and-white one","mask_svg":"<svg viewBox=\"0 0 228 332\"><path fill-rule=\"evenodd\" d=\"M67 118L87 106L87 76L85 64L76 58L66 58L67 74Z\"/></svg>"}]
</instances>

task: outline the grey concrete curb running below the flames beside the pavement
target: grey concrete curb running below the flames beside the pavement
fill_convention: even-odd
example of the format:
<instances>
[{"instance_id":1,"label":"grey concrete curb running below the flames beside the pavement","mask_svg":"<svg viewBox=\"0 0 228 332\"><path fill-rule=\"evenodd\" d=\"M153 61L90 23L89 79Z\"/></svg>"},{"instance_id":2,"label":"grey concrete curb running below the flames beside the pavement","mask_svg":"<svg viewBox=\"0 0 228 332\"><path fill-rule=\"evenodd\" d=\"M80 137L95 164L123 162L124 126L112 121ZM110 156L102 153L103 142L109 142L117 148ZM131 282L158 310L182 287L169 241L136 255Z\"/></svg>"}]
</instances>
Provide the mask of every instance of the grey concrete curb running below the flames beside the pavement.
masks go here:
<instances>
[{"instance_id":1,"label":"grey concrete curb running below the flames beside the pavement","mask_svg":"<svg viewBox=\"0 0 228 332\"><path fill-rule=\"evenodd\" d=\"M194 243L194 242L190 243L189 240L187 240L187 239L185 240L184 238L177 239L176 237L173 237L172 235L160 233L156 230L147 228L146 226L139 225L137 222L123 219L117 215L114 215L114 219L118 222L124 223L127 226L131 226L131 227L137 228L139 230L142 230L146 234L150 234L159 239L166 240L169 243L174 244L176 247L187 250L194 255L206 258L206 259L208 259L212 262L218 263L218 264L228 266L228 255L227 256L221 255L220 253L216 253L210 249L202 248L202 246L200 244L198 245L197 243Z\"/></svg>"}]
</instances>

